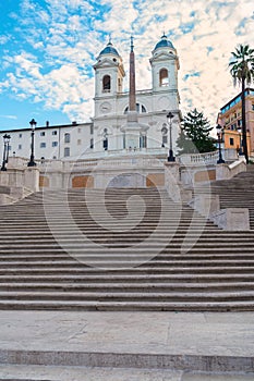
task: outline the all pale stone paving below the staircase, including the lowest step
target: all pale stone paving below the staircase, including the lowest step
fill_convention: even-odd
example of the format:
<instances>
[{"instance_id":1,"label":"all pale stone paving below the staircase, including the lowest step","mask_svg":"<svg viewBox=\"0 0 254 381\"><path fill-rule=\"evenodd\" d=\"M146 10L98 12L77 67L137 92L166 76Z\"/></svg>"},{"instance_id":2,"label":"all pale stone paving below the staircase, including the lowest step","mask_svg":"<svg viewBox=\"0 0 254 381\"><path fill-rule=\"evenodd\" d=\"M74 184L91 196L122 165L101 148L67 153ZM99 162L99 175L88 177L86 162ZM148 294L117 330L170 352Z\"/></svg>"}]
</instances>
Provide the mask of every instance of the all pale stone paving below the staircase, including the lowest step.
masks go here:
<instances>
[{"instance_id":1,"label":"all pale stone paving below the staircase, including the lowest step","mask_svg":"<svg viewBox=\"0 0 254 381\"><path fill-rule=\"evenodd\" d=\"M78 368L76 365L80 364L70 364L75 367L65 368L33 367L25 362L33 351L38 352L37 359L49 352L43 364L50 362L55 353L61 356L63 352L75 353L75 358L78 357L76 353L85 353L88 354L85 361L92 361L92 365L100 361L99 365L105 368ZM97 357L93 358L93 354ZM161 362L160 355L172 356L170 364L173 370L132 369L136 366L153 368L153 358L157 358L155 364L162 364L161 368L169 368ZM201 370L201 359L207 356L211 362L219 356L232 359L232 372L234 364L247 359L247 372L240 374L238 366L239 374L231 376L198 376L195 371L195 374L188 371L186 364L193 359L196 370ZM10 358L14 364L24 366L2 365L0 377L3 380L8 377L13 380L20 377L21 380L59 381L254 380L254 312L0 311L0 362L8 362ZM63 364L64 360L65 357ZM185 371L181 369L181 361Z\"/></svg>"}]
</instances>

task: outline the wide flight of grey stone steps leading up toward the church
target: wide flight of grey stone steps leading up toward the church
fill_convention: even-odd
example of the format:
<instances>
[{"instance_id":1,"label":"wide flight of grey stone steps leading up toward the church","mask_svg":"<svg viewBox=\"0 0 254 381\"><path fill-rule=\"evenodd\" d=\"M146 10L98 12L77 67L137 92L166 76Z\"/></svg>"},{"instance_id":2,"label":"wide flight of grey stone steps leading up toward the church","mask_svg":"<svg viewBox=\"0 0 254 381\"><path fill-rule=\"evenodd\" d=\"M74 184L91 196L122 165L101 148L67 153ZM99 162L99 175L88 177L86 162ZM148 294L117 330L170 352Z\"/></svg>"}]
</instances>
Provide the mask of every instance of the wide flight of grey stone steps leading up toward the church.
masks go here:
<instances>
[{"instance_id":1,"label":"wide flight of grey stone steps leading up toward the church","mask_svg":"<svg viewBox=\"0 0 254 381\"><path fill-rule=\"evenodd\" d=\"M254 232L165 190L47 190L0 211L0 309L254 310Z\"/></svg>"}]
</instances>

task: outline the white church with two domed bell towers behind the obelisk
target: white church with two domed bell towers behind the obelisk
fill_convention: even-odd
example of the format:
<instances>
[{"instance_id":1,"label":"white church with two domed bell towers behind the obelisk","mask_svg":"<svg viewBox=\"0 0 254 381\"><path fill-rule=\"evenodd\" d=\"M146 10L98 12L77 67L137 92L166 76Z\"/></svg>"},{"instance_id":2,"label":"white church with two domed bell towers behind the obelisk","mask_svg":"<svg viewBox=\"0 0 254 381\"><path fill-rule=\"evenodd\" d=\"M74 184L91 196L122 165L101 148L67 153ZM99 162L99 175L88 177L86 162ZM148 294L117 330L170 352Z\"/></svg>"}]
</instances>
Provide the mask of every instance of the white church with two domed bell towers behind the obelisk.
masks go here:
<instances>
[{"instance_id":1,"label":"white church with two domed bell towers behind the obelisk","mask_svg":"<svg viewBox=\"0 0 254 381\"><path fill-rule=\"evenodd\" d=\"M131 61L131 59L130 59ZM173 145L179 133L181 114L178 91L179 59L177 50L164 35L155 46L149 60L152 69L152 88L135 93L135 109L141 126L140 139L130 146L125 139L124 124L130 109L130 88L123 93L125 71L122 58L111 41L99 53L95 69L95 150L107 147L109 150L153 150L168 145L168 125L166 115L170 111L172 119ZM135 74L135 73L134 73ZM138 77L137 77L138 82Z\"/></svg>"}]
</instances>

